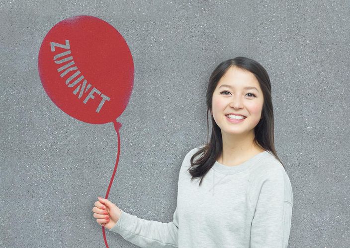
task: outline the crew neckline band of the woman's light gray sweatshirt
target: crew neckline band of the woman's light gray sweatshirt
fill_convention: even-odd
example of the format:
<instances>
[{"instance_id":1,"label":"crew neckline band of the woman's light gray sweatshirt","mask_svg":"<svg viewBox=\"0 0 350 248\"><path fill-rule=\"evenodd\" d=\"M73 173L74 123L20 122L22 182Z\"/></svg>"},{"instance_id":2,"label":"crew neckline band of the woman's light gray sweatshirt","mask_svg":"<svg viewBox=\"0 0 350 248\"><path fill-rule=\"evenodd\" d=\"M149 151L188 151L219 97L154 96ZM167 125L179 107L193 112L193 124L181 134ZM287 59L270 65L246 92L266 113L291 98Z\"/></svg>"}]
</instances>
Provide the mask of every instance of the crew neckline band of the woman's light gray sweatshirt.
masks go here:
<instances>
[{"instance_id":1,"label":"crew neckline band of the woman's light gray sweatshirt","mask_svg":"<svg viewBox=\"0 0 350 248\"><path fill-rule=\"evenodd\" d=\"M222 174L235 174L235 173L238 173L238 172L241 172L241 171L247 169L252 164L261 160L267 154L269 154L269 152L267 150L265 150L263 152L258 153L257 155L254 155L253 157L246 160L245 162L238 164L238 165L235 165L235 166L227 166L227 165L223 165L223 164L219 163L218 161L215 161L212 168L215 171L220 172Z\"/></svg>"}]
</instances>

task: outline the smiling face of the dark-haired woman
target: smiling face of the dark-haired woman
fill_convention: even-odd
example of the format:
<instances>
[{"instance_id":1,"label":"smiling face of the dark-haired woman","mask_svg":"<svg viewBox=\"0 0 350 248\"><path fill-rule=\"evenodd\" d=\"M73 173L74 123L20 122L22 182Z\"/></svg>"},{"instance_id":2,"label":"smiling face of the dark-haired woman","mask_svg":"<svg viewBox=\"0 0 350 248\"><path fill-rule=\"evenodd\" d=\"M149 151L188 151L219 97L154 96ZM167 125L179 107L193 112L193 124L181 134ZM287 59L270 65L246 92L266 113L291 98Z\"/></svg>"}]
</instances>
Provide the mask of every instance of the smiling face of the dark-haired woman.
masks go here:
<instances>
[{"instance_id":1,"label":"smiling face of the dark-haired woman","mask_svg":"<svg viewBox=\"0 0 350 248\"><path fill-rule=\"evenodd\" d=\"M231 66L218 82L212 99L212 115L221 133L239 135L254 132L262 110L263 91L257 78L250 71ZM243 115L245 119L230 119L237 116L228 117L228 114Z\"/></svg>"}]
</instances>

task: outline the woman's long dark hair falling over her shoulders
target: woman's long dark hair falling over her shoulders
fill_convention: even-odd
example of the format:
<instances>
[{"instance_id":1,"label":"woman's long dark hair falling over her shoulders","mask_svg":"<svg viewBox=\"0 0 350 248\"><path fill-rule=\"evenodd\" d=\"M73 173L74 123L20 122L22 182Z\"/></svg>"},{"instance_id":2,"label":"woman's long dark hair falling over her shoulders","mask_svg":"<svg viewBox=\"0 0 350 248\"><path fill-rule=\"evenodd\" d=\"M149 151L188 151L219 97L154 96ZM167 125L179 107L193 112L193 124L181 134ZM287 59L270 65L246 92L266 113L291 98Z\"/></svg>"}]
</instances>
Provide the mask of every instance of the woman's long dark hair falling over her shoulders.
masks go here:
<instances>
[{"instance_id":1,"label":"woman's long dark hair falling over her shoulders","mask_svg":"<svg viewBox=\"0 0 350 248\"><path fill-rule=\"evenodd\" d=\"M213 92L220 81L221 77L226 73L226 71L231 67L236 66L238 68L244 69L246 71L252 72L257 80L259 81L260 87L263 91L263 110L262 119L254 128L255 138L254 142L262 147L264 150L272 153L275 158L283 165L282 161L278 158L276 150L274 148L274 135L273 135L273 107L271 99L271 83L268 74L264 67L252 59L245 57L236 57L224 62L221 62L211 73L208 82L208 88L206 92L206 104L207 104L207 144L200 147L199 150L192 155L190 162L191 166L188 168L189 173L192 178L200 178L199 186L202 180L210 168L214 165L216 159L220 156L222 152L222 136L221 129L214 121L211 116L212 130L211 137L209 138L209 123L208 123L208 113L212 111L212 99ZM194 158L201 154L201 156L194 161Z\"/></svg>"}]
</instances>

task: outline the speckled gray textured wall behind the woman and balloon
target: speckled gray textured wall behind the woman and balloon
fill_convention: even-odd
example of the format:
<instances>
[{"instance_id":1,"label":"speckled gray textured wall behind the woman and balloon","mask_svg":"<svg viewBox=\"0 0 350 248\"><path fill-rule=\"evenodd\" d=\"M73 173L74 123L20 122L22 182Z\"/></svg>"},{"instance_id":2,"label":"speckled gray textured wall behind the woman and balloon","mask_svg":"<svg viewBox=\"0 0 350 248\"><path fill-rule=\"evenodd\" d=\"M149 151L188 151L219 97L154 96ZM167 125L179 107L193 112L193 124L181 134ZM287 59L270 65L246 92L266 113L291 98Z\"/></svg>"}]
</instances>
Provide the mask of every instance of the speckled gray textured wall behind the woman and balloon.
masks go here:
<instances>
[{"instance_id":1,"label":"speckled gray textured wall behind the woman and balloon","mask_svg":"<svg viewBox=\"0 0 350 248\"><path fill-rule=\"evenodd\" d=\"M37 70L46 33L82 14L113 25L135 64L111 201L172 221L182 159L206 141L207 79L245 56L271 79L294 193L289 247L349 245L349 1L11 0L0 2L0 247L104 246L91 209L115 163L113 124L65 114ZM135 247L106 235L110 247Z\"/></svg>"}]
</instances>

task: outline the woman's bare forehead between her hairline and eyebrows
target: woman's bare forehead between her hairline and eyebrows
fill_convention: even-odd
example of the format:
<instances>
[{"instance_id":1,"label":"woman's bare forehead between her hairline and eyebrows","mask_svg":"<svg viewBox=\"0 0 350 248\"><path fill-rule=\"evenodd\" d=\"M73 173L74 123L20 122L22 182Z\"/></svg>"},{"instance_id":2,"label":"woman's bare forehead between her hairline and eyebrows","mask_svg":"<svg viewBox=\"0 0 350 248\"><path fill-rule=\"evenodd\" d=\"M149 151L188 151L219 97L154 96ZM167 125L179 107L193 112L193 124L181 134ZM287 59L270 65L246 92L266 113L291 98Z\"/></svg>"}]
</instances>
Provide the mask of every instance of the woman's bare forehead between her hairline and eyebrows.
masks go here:
<instances>
[{"instance_id":1,"label":"woman's bare forehead between her hairline and eyebrows","mask_svg":"<svg viewBox=\"0 0 350 248\"><path fill-rule=\"evenodd\" d=\"M231 66L226 71L219 80L217 87L220 87L222 84L228 84L232 87L255 86L260 89L259 81L252 72L235 66Z\"/></svg>"}]
</instances>

